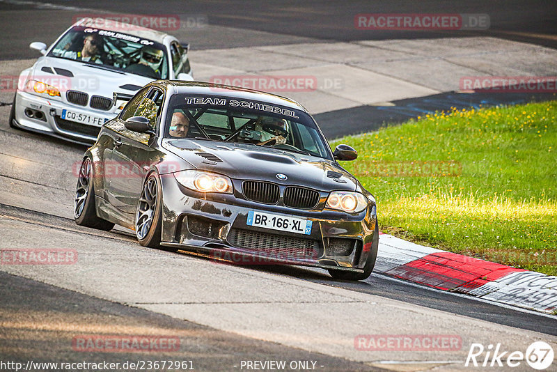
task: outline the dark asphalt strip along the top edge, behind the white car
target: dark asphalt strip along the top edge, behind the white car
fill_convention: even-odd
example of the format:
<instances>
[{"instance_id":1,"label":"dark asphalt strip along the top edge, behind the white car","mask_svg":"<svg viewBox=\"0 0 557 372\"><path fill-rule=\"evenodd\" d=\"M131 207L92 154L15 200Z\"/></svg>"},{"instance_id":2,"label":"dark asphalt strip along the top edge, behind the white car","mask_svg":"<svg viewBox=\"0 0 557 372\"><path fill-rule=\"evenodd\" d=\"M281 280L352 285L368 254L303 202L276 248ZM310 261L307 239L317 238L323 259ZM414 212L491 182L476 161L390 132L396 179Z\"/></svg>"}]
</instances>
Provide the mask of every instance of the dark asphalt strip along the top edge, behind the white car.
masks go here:
<instances>
[{"instance_id":1,"label":"dark asphalt strip along the top edge, behind the white car","mask_svg":"<svg viewBox=\"0 0 557 372\"><path fill-rule=\"evenodd\" d=\"M231 27L207 34L206 29L192 27L178 33L196 49L227 48L253 45L276 45L289 42L324 40L389 40L394 38L440 38L494 36L557 47L557 3L546 0L510 1L0 1L3 22L0 24L0 59L36 56L29 42L37 31L43 40L54 40L74 15L102 10L110 13L180 15L205 17L208 24ZM86 9L84 11L84 9ZM21 10L24 10L22 12ZM53 11L55 13L53 13ZM487 14L490 26L485 31L363 31L354 27L354 16L361 13L464 13ZM55 15L55 16L53 16ZM29 27L22 27L29 25ZM32 26L31 26L32 25ZM15 32L17 31L17 32ZM255 31L246 38L246 31ZM269 38L268 34L273 37ZM6 37L8 36L9 37Z\"/></svg>"}]
</instances>

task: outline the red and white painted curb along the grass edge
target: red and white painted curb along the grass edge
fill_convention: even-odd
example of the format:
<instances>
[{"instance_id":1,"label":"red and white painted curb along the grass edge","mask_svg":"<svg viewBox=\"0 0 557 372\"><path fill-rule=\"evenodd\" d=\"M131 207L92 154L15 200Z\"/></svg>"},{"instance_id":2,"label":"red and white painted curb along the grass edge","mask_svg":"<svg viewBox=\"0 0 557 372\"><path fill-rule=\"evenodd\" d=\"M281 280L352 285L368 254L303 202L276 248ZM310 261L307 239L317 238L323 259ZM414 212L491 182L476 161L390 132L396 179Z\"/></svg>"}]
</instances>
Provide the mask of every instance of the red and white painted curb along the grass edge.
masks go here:
<instances>
[{"instance_id":1,"label":"red and white painted curb along the grass edge","mask_svg":"<svg viewBox=\"0 0 557 372\"><path fill-rule=\"evenodd\" d=\"M381 234L375 272L485 300L556 313L557 277Z\"/></svg>"}]
</instances>

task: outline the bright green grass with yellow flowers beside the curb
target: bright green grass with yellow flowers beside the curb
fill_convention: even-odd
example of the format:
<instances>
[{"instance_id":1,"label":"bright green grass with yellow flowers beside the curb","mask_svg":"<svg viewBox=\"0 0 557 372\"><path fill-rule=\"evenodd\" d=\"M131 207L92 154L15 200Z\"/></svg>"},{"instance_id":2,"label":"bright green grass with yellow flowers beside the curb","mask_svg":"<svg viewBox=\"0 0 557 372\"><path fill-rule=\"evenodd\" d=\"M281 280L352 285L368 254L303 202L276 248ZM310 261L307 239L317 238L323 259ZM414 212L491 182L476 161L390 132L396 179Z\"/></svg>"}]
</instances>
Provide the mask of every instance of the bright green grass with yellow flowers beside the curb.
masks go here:
<instances>
[{"instance_id":1,"label":"bright green grass with yellow flowers beside the curb","mask_svg":"<svg viewBox=\"0 0 557 372\"><path fill-rule=\"evenodd\" d=\"M382 231L557 274L557 101L426 115L341 143L358 150L343 166L375 195Z\"/></svg>"}]
</instances>

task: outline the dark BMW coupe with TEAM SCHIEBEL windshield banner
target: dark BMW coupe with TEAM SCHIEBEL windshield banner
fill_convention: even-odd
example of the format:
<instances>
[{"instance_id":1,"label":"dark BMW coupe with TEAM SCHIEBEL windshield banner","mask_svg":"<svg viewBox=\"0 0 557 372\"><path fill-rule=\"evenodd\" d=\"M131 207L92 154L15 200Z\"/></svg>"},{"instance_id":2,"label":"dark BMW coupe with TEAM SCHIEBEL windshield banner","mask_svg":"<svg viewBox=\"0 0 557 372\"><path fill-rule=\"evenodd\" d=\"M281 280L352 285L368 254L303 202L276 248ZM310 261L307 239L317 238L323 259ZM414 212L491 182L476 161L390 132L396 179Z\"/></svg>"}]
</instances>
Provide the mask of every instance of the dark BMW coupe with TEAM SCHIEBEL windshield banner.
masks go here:
<instances>
[{"instance_id":1,"label":"dark BMW coupe with TEAM SCHIEBEL windshield banner","mask_svg":"<svg viewBox=\"0 0 557 372\"><path fill-rule=\"evenodd\" d=\"M295 101L201 82L157 81L102 125L79 167L75 222L136 231L141 245L242 263L370 276L375 199ZM235 259L232 259L235 261Z\"/></svg>"}]
</instances>

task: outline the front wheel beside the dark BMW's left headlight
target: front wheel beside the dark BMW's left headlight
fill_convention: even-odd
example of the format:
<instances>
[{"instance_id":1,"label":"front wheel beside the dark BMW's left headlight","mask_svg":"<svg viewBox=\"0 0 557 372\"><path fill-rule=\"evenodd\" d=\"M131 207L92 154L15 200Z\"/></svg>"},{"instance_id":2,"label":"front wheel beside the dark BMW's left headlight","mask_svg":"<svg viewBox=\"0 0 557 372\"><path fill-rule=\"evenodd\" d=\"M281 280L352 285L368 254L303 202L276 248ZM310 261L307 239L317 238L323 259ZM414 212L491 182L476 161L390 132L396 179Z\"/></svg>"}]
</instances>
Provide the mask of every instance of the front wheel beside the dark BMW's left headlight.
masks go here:
<instances>
[{"instance_id":1,"label":"front wheel beside the dark BMW's left headlight","mask_svg":"<svg viewBox=\"0 0 557 372\"><path fill-rule=\"evenodd\" d=\"M161 210L161 180L157 173L151 173L143 183L135 217L136 237L143 247L160 248L162 235Z\"/></svg>"}]
</instances>

